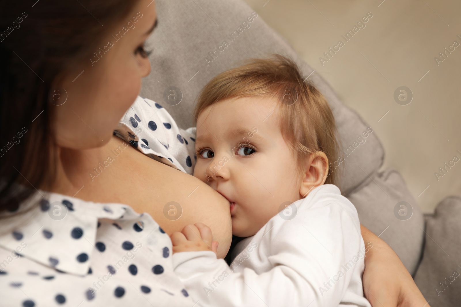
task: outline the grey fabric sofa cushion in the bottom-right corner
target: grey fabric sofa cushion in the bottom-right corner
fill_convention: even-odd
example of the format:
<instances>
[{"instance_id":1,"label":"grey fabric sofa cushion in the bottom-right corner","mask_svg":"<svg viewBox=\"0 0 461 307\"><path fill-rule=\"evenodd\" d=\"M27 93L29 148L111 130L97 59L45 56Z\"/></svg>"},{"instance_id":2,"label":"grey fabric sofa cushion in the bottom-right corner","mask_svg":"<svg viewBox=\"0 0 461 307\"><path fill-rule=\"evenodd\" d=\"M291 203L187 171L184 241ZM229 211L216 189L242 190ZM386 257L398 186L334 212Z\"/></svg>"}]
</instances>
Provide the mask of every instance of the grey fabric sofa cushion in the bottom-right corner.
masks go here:
<instances>
[{"instance_id":1,"label":"grey fabric sofa cushion in the bottom-right corner","mask_svg":"<svg viewBox=\"0 0 461 307\"><path fill-rule=\"evenodd\" d=\"M426 244L414 281L432 307L461 305L461 198L447 197L426 219Z\"/></svg>"}]
</instances>

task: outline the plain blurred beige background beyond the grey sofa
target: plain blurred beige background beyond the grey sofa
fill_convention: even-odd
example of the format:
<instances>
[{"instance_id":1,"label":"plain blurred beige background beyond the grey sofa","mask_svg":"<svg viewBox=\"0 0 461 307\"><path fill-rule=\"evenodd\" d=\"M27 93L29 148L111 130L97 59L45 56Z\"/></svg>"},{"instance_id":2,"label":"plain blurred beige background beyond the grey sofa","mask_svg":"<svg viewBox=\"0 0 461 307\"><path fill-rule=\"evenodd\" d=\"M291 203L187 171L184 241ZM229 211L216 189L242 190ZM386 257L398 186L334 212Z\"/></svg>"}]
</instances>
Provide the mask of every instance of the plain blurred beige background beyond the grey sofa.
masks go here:
<instances>
[{"instance_id":1,"label":"plain blurred beige background beyond the grey sofa","mask_svg":"<svg viewBox=\"0 0 461 307\"><path fill-rule=\"evenodd\" d=\"M461 46L438 65L434 59L461 44L461 1L381 1L246 0L373 127L386 153L383 169L400 171L431 213L444 197L461 197L461 161L439 171L461 158ZM341 35L367 12L373 17L365 28L345 42ZM344 46L322 64L339 40ZM412 91L410 104L394 100L401 86Z\"/></svg>"}]
</instances>

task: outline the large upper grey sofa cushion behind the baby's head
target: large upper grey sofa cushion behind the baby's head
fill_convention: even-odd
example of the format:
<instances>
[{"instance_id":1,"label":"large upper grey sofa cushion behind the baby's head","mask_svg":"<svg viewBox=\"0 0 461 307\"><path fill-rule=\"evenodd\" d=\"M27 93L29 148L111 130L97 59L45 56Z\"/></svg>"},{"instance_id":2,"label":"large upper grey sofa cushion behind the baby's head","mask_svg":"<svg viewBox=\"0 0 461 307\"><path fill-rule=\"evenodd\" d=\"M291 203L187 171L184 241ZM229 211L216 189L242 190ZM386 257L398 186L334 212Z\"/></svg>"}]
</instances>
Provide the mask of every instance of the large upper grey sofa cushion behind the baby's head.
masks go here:
<instances>
[{"instance_id":1,"label":"large upper grey sofa cushion behind the baby's head","mask_svg":"<svg viewBox=\"0 0 461 307\"><path fill-rule=\"evenodd\" d=\"M142 82L141 95L164 106L179 127L192 126L195 99L213 76L249 57L281 53L300 65L331 105L342 143L344 161L333 161L339 165L335 171L343 170L337 183L342 193L381 166L384 151L372 127L346 107L326 81L243 1L157 0L155 4L158 28L147 42L153 50L152 72Z\"/></svg>"}]
</instances>

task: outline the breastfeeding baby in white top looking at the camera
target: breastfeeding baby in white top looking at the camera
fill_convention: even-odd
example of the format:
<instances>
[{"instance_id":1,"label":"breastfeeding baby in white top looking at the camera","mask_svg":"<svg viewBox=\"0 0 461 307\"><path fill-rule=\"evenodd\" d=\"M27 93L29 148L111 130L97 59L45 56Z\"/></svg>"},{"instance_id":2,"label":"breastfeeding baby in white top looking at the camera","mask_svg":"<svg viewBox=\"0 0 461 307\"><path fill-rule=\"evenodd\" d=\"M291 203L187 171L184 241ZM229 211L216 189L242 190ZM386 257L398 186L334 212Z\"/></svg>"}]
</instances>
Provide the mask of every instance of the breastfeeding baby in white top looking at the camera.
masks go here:
<instances>
[{"instance_id":1,"label":"breastfeeding baby in white top looking at the camera","mask_svg":"<svg viewBox=\"0 0 461 307\"><path fill-rule=\"evenodd\" d=\"M337 156L334 117L296 64L277 55L216 76L195 119L194 176L227 198L233 234L248 239L228 266L207 226L171 235L174 272L194 301L370 306L357 211L328 167Z\"/></svg>"}]
</instances>

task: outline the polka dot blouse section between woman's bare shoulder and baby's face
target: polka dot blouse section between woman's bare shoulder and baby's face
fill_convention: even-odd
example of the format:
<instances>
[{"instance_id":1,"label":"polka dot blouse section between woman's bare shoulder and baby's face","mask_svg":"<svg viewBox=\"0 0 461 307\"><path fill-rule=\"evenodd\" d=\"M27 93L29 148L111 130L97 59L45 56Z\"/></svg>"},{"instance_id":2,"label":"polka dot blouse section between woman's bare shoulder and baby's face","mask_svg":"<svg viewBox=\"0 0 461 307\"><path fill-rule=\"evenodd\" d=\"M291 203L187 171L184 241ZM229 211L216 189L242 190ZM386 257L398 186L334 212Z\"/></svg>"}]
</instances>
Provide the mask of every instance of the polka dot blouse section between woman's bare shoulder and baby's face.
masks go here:
<instances>
[{"instance_id":1,"label":"polka dot blouse section between woman's bare shoulder and baby's face","mask_svg":"<svg viewBox=\"0 0 461 307\"><path fill-rule=\"evenodd\" d=\"M115 135L149 157L182 172L193 174L195 127L181 129L160 104L138 97L124 114ZM189 156L189 159L187 158Z\"/></svg>"}]
</instances>

